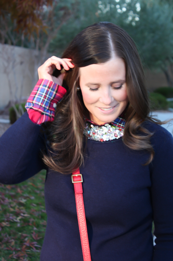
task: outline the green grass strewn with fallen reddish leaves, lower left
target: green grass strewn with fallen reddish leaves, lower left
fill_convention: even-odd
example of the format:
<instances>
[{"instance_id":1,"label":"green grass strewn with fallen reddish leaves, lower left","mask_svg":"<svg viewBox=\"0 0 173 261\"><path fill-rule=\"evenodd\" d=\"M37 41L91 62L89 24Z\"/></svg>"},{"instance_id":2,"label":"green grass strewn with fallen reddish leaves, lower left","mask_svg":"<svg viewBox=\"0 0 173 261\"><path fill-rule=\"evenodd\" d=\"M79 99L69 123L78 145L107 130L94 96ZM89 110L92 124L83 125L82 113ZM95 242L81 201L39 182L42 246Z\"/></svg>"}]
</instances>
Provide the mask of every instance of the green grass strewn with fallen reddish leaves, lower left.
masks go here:
<instances>
[{"instance_id":1,"label":"green grass strewn with fallen reddish leaves, lower left","mask_svg":"<svg viewBox=\"0 0 173 261\"><path fill-rule=\"evenodd\" d=\"M45 170L17 185L0 184L0 260L38 261L47 215Z\"/></svg>"}]
</instances>

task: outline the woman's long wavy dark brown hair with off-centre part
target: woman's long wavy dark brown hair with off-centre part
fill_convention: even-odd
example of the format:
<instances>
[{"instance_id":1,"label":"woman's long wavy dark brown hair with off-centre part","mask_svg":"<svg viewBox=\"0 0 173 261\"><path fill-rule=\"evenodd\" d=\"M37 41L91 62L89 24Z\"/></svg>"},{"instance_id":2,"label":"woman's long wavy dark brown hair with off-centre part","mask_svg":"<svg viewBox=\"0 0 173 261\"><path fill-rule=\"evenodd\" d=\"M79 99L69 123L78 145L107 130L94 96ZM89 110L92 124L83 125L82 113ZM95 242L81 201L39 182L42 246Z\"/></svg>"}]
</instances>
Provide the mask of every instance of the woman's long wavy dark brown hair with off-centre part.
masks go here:
<instances>
[{"instance_id":1,"label":"woman's long wavy dark brown hair with off-centre part","mask_svg":"<svg viewBox=\"0 0 173 261\"><path fill-rule=\"evenodd\" d=\"M81 91L77 91L79 68L109 61L112 51L126 65L129 103L123 142L132 150L147 150L150 156L145 164L152 161L154 150L150 138L153 133L142 123L146 120L161 122L149 116L150 105L138 51L132 38L122 28L113 23L100 22L77 34L62 55L62 58L71 58L75 67L66 71L63 87L67 93L57 106L55 120L46 124L47 153L44 153L43 160L50 169L68 174L83 163L83 115L89 117L89 112Z\"/></svg>"}]
</instances>

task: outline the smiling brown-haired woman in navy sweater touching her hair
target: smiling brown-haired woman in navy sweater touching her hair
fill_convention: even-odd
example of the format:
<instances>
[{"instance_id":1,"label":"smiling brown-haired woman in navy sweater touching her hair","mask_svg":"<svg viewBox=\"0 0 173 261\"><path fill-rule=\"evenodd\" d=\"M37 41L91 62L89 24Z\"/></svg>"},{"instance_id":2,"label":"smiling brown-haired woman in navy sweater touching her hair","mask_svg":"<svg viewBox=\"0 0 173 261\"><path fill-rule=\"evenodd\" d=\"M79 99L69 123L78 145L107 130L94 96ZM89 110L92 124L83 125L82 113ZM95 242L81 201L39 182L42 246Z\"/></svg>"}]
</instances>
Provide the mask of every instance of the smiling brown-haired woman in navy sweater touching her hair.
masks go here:
<instances>
[{"instance_id":1,"label":"smiling brown-haired woman in navy sweater touching her hair","mask_svg":"<svg viewBox=\"0 0 173 261\"><path fill-rule=\"evenodd\" d=\"M80 167L92 261L172 261L173 140L148 115L133 40L112 23L94 24L38 74L27 112L0 139L0 182L47 169L40 260L83 260L69 175Z\"/></svg>"}]
</instances>

